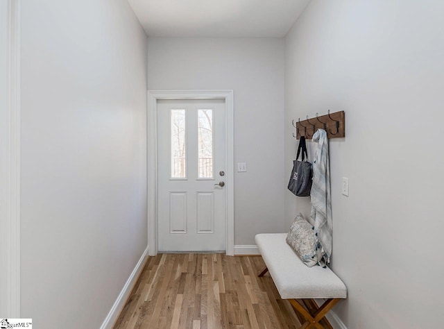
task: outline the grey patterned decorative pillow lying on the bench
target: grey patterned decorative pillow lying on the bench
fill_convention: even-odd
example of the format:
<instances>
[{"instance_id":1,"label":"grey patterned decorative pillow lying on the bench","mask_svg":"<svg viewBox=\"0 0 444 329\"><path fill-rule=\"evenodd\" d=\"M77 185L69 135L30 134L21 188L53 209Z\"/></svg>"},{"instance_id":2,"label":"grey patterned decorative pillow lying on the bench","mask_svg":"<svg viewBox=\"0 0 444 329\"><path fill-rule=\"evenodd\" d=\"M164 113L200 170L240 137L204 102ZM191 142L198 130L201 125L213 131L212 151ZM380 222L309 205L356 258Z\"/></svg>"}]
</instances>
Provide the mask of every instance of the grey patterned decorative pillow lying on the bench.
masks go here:
<instances>
[{"instance_id":1,"label":"grey patterned decorative pillow lying on the bench","mask_svg":"<svg viewBox=\"0 0 444 329\"><path fill-rule=\"evenodd\" d=\"M312 267L322 260L322 251L318 248L314 227L305 220L302 214L298 214L291 224L287 244L293 248L307 267Z\"/></svg>"}]
</instances>

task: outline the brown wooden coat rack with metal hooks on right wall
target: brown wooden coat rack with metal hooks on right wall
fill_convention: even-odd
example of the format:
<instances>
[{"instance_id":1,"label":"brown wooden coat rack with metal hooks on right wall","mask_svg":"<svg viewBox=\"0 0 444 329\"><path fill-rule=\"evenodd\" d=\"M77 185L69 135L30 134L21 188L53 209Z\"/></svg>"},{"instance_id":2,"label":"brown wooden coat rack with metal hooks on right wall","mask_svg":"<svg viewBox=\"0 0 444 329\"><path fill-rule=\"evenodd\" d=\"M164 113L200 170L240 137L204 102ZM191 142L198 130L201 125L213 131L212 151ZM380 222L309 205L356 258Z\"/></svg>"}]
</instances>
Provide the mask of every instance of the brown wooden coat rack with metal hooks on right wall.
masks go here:
<instances>
[{"instance_id":1,"label":"brown wooden coat rack with metal hooks on right wall","mask_svg":"<svg viewBox=\"0 0 444 329\"><path fill-rule=\"evenodd\" d=\"M310 118L300 121L294 120L292 121L293 127L296 128L296 136L293 133L293 137L296 139L300 139L301 136L305 136L306 140L311 140L316 130L319 128L327 131L327 137L330 138L339 138L345 137L345 112L339 111L330 114L330 110L328 110L327 115L323 115L318 117L318 113L316 113L316 117Z\"/></svg>"}]
</instances>

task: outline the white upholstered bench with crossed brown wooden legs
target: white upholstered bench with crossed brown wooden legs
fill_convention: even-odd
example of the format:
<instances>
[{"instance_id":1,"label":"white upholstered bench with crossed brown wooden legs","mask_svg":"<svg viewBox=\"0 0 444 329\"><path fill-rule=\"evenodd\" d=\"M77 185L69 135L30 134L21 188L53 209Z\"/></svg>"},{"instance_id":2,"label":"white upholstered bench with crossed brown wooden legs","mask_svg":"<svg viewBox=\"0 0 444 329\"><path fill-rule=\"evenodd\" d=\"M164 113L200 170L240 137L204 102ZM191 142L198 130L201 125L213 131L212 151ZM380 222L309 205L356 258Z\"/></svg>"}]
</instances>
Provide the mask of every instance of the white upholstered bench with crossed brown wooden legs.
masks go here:
<instances>
[{"instance_id":1,"label":"white upholstered bench with crossed brown wooden legs","mask_svg":"<svg viewBox=\"0 0 444 329\"><path fill-rule=\"evenodd\" d=\"M288 299L307 320L301 328L324 328L319 321L342 298L347 298L347 288L328 267L307 267L302 263L285 241L286 237L287 233L256 235L257 248L266 264L259 276L270 272L281 298ZM312 301L314 298L326 298L327 301L317 307ZM311 300L312 312L306 310L296 299Z\"/></svg>"}]
</instances>

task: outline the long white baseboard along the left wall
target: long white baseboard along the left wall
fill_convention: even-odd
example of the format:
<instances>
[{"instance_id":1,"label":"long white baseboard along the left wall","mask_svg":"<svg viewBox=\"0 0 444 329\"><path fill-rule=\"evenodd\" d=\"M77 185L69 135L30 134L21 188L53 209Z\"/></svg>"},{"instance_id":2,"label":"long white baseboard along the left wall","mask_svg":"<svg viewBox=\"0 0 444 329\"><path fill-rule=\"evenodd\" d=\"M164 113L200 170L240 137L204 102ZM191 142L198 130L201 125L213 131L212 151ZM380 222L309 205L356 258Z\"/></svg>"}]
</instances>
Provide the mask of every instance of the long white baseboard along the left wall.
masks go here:
<instances>
[{"instance_id":1,"label":"long white baseboard along the left wall","mask_svg":"<svg viewBox=\"0 0 444 329\"><path fill-rule=\"evenodd\" d=\"M106 316L105 321L103 321L100 329L111 329L112 326L114 326L117 317L119 317L119 314L123 309L123 306L125 306L128 296L130 296L130 293L133 290L134 285L136 284L137 278L139 278L140 272L142 271L142 269L144 269L144 264L147 258L148 258L148 246L146 247L144 253L142 254L142 257L139 259L139 262L137 262L136 267L133 269L133 272L131 273L130 277L128 278L128 280L126 280L123 289L121 290L119 296L117 296L114 305L112 305L111 310Z\"/></svg>"}]
</instances>

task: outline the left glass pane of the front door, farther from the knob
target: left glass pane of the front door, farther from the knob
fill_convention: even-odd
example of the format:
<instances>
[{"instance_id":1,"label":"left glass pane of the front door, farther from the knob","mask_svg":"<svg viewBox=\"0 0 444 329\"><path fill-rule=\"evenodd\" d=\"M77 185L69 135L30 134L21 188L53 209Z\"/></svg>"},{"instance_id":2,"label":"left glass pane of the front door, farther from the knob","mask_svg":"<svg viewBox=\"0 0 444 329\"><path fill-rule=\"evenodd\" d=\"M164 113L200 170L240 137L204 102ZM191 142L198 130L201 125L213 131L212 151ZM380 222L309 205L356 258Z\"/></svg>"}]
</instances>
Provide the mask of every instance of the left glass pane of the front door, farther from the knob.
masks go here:
<instances>
[{"instance_id":1,"label":"left glass pane of the front door, farther from the knob","mask_svg":"<svg viewBox=\"0 0 444 329\"><path fill-rule=\"evenodd\" d=\"M171 110L171 178L187 177L185 110Z\"/></svg>"}]
</instances>

